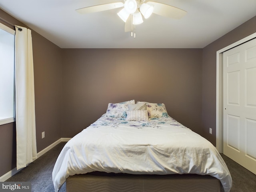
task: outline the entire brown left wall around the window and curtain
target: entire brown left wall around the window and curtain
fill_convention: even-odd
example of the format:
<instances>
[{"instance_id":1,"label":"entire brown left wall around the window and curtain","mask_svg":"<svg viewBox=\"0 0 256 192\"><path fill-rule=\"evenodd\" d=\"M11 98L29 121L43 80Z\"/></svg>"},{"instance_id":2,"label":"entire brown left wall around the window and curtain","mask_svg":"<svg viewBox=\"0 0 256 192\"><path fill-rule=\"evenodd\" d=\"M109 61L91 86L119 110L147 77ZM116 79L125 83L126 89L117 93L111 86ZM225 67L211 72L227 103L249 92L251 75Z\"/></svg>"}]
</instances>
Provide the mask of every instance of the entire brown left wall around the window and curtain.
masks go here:
<instances>
[{"instance_id":1,"label":"entire brown left wall around the window and curtain","mask_svg":"<svg viewBox=\"0 0 256 192\"><path fill-rule=\"evenodd\" d=\"M0 9L0 17L27 27ZM4 22L2 22L5 24ZM7 25L11 27L10 25ZM11 27L12 28L12 27ZM59 138L61 98L61 48L32 30L37 151L40 152ZM42 139L42 132L45 138ZM0 176L16 167L15 123L0 126Z\"/></svg>"}]
</instances>

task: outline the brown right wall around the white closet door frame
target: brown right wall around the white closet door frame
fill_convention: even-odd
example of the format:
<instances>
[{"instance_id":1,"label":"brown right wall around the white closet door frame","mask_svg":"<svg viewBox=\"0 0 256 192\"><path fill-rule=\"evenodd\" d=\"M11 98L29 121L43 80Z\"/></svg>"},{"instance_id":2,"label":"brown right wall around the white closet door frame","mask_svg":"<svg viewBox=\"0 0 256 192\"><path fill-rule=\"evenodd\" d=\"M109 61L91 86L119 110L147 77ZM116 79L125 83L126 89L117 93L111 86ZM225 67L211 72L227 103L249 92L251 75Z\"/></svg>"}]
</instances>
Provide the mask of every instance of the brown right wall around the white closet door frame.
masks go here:
<instances>
[{"instance_id":1,"label":"brown right wall around the white closet door frame","mask_svg":"<svg viewBox=\"0 0 256 192\"><path fill-rule=\"evenodd\" d=\"M203 49L203 136L216 145L216 52L256 32L256 16ZM212 128L212 135L209 134Z\"/></svg>"}]
</instances>

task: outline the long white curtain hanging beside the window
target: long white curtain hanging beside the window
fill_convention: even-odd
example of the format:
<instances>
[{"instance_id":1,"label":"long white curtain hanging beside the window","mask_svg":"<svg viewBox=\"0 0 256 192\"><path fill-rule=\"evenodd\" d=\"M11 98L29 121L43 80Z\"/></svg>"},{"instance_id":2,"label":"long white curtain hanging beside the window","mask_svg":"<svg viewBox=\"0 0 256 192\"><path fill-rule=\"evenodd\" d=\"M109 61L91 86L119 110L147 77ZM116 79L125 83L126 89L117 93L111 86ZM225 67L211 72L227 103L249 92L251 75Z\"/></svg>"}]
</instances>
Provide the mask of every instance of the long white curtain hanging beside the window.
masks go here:
<instances>
[{"instance_id":1,"label":"long white curtain hanging beside the window","mask_svg":"<svg viewBox=\"0 0 256 192\"><path fill-rule=\"evenodd\" d=\"M31 30L15 26L17 170L37 158Z\"/></svg>"}]
</instances>

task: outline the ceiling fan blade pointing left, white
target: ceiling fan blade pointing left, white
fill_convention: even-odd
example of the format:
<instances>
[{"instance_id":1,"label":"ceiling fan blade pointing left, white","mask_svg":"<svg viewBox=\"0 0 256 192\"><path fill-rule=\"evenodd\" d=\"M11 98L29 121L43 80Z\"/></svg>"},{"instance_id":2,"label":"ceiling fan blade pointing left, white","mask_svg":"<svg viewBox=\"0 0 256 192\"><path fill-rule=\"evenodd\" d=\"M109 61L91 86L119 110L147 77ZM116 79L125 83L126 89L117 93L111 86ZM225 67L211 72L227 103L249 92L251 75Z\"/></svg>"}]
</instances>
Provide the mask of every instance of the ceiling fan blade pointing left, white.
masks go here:
<instances>
[{"instance_id":1,"label":"ceiling fan blade pointing left, white","mask_svg":"<svg viewBox=\"0 0 256 192\"><path fill-rule=\"evenodd\" d=\"M86 14L86 13L93 13L93 12L106 11L106 10L110 10L110 9L116 9L116 8L123 7L123 6L124 6L123 2L116 2L116 3L108 3L108 4L84 7L84 8L77 9L76 11L80 14Z\"/></svg>"}]
</instances>

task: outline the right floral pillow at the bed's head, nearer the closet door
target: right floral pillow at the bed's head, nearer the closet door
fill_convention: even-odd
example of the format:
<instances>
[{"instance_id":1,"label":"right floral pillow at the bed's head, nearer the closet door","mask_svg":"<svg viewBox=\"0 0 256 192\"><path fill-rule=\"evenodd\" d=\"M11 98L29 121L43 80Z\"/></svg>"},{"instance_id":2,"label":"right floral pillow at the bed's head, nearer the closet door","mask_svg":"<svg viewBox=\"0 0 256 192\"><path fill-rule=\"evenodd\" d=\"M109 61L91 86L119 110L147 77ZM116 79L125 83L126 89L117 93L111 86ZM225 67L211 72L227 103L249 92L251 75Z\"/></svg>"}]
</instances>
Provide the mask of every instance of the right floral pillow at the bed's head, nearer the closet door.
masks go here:
<instances>
[{"instance_id":1,"label":"right floral pillow at the bed's head, nearer the closet door","mask_svg":"<svg viewBox=\"0 0 256 192\"><path fill-rule=\"evenodd\" d=\"M163 103L148 103L148 102L140 102L140 101L138 101L137 103L146 103L149 118L168 117L165 104Z\"/></svg>"}]
</instances>

